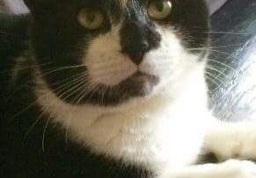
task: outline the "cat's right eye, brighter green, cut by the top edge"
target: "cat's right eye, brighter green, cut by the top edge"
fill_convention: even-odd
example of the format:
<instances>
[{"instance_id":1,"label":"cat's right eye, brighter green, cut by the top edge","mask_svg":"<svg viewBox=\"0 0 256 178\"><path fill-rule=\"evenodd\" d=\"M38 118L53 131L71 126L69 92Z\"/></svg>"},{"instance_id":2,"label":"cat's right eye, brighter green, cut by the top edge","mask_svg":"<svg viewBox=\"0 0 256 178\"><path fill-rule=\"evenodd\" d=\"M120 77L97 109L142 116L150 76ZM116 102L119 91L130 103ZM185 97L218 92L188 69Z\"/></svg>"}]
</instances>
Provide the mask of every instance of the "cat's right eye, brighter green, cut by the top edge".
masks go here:
<instances>
[{"instance_id":1,"label":"cat's right eye, brighter green, cut by the top edge","mask_svg":"<svg viewBox=\"0 0 256 178\"><path fill-rule=\"evenodd\" d=\"M170 0L152 0L148 6L150 18L163 20L172 12L172 2Z\"/></svg>"}]
</instances>

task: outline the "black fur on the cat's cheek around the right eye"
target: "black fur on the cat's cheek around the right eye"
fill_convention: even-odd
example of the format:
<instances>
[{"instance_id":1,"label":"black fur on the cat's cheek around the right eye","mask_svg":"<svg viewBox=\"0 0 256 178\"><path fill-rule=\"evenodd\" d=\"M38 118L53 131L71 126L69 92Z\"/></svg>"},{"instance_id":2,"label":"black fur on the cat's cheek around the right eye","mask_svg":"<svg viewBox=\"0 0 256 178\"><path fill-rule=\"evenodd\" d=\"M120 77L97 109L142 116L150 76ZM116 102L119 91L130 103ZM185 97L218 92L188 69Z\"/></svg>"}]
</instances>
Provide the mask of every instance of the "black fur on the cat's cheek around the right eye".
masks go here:
<instances>
[{"instance_id":1,"label":"black fur on the cat's cheek around the right eye","mask_svg":"<svg viewBox=\"0 0 256 178\"><path fill-rule=\"evenodd\" d=\"M171 22L187 48L205 48L208 45L208 9L202 0L173 0L173 11L165 24ZM181 34L180 34L181 33ZM197 52L203 53L201 49Z\"/></svg>"}]
</instances>

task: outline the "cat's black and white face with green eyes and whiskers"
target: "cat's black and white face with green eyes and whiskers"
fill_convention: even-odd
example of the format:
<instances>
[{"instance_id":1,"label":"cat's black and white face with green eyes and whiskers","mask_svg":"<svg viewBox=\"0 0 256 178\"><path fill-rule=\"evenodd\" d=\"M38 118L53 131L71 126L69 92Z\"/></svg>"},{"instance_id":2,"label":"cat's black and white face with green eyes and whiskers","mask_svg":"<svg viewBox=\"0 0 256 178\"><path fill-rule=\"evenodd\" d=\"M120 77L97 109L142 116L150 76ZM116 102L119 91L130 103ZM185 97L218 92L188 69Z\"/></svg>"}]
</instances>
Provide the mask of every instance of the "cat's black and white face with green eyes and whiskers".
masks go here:
<instances>
[{"instance_id":1,"label":"cat's black and white face with green eyes and whiskers","mask_svg":"<svg viewBox=\"0 0 256 178\"><path fill-rule=\"evenodd\" d=\"M116 105L154 95L182 80L206 53L191 51L208 42L203 0L26 3L41 73L68 103Z\"/></svg>"}]
</instances>

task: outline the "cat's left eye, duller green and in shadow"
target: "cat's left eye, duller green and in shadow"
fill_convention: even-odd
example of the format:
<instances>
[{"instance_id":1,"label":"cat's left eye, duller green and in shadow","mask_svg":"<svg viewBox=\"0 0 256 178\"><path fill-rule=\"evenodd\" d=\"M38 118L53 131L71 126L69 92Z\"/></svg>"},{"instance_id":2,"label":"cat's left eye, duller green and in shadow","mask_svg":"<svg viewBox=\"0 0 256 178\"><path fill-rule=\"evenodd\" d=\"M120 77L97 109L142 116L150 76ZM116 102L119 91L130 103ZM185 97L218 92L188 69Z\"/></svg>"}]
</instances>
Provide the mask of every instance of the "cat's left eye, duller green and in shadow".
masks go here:
<instances>
[{"instance_id":1,"label":"cat's left eye, duller green and in shadow","mask_svg":"<svg viewBox=\"0 0 256 178\"><path fill-rule=\"evenodd\" d=\"M89 30L99 29L104 22L104 14L100 10L83 9L79 11L78 22Z\"/></svg>"}]
</instances>

